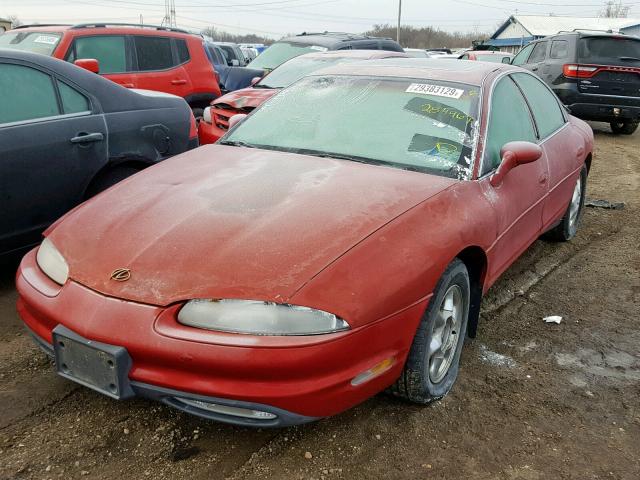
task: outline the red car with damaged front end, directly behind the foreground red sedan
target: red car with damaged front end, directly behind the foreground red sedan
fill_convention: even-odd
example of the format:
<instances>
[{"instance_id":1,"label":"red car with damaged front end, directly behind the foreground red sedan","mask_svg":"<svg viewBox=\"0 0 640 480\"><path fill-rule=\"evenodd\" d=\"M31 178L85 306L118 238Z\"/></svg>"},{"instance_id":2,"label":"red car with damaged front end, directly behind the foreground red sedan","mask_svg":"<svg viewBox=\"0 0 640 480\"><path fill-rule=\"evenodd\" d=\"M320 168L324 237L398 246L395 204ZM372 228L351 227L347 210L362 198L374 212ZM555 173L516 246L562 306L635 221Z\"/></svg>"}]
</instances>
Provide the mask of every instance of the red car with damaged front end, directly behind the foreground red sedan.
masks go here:
<instances>
[{"instance_id":1,"label":"red car with damaged front end, directly behind the foreground red sedan","mask_svg":"<svg viewBox=\"0 0 640 480\"><path fill-rule=\"evenodd\" d=\"M214 143L229 129L229 119L238 113L249 113L283 88L321 68L338 63L362 60L407 57L387 50L337 50L300 55L283 63L251 87L227 93L211 102L198 127L200 145Z\"/></svg>"}]
</instances>

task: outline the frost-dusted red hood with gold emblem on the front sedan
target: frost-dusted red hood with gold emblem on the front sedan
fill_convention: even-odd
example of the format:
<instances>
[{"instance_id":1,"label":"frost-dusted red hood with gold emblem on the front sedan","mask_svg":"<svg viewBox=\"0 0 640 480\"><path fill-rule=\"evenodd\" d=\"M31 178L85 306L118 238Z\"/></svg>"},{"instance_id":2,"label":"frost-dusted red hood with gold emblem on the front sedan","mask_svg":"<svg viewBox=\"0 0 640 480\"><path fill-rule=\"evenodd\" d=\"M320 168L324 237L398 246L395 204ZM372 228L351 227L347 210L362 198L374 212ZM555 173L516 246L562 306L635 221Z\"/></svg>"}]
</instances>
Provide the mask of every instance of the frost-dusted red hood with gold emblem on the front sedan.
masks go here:
<instances>
[{"instance_id":1,"label":"frost-dusted red hood with gold emblem on the front sedan","mask_svg":"<svg viewBox=\"0 0 640 480\"><path fill-rule=\"evenodd\" d=\"M209 145L103 192L48 232L70 278L106 295L286 302L344 252L455 180ZM128 268L118 282L111 274Z\"/></svg>"}]
</instances>

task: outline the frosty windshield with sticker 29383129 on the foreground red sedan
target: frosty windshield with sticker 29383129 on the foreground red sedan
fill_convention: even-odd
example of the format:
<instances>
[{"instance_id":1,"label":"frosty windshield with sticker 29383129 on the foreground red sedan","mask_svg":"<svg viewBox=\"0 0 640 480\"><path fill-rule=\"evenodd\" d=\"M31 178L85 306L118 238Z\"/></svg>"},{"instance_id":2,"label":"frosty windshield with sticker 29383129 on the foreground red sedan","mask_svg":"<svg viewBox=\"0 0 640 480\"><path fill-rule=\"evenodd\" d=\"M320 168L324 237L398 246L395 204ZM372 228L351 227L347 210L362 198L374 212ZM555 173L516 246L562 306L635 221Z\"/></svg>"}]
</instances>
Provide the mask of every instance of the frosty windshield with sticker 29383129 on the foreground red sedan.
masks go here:
<instances>
[{"instance_id":1,"label":"frosty windshield with sticker 29383129 on the foreground red sedan","mask_svg":"<svg viewBox=\"0 0 640 480\"><path fill-rule=\"evenodd\" d=\"M435 80L307 77L220 143L467 179L479 87Z\"/></svg>"}]
</instances>

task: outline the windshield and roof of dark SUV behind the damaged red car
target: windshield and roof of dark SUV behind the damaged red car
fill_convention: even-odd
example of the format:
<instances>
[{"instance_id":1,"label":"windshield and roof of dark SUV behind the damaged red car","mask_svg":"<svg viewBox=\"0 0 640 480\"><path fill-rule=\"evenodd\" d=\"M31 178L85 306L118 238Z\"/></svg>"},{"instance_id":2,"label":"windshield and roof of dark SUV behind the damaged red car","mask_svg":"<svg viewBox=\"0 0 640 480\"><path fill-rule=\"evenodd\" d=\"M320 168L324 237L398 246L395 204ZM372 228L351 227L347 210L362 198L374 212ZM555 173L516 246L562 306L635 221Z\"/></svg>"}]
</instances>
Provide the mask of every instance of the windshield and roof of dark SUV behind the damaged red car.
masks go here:
<instances>
[{"instance_id":1,"label":"windshield and roof of dark SUV behind the damaged red car","mask_svg":"<svg viewBox=\"0 0 640 480\"><path fill-rule=\"evenodd\" d=\"M271 71L293 57L305 53L326 52L328 50L389 50L392 52L404 52L404 49L390 38L335 32L301 33L294 37L278 40L247 66Z\"/></svg>"}]
</instances>

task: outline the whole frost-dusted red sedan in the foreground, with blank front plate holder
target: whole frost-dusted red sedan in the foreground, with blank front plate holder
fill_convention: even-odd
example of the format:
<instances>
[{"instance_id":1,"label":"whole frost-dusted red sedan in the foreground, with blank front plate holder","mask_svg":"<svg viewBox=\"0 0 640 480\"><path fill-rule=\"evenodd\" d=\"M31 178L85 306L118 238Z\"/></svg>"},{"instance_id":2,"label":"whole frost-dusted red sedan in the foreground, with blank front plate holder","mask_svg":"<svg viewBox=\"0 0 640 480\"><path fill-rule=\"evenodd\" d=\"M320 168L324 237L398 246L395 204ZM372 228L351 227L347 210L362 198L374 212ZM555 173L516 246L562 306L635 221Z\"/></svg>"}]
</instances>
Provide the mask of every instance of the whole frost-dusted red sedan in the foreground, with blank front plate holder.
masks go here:
<instances>
[{"instance_id":1,"label":"whole frost-dusted red sedan in the foreground, with blank front plate holder","mask_svg":"<svg viewBox=\"0 0 640 480\"><path fill-rule=\"evenodd\" d=\"M54 224L18 310L60 375L113 398L256 426L389 387L428 403L483 293L576 234L592 146L517 67L330 67Z\"/></svg>"}]
</instances>

